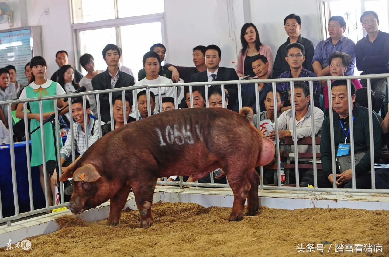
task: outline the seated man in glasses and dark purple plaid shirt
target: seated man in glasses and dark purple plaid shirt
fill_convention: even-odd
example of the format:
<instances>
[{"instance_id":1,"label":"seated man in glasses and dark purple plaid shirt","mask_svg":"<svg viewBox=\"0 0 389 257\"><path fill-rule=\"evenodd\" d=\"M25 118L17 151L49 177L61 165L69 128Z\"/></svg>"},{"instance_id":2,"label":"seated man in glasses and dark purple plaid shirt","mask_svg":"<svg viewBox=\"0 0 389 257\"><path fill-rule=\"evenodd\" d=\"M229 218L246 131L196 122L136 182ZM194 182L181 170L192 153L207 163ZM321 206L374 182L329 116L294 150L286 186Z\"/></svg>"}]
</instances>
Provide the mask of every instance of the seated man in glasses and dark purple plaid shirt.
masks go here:
<instances>
[{"instance_id":1,"label":"seated man in glasses and dark purple plaid shirt","mask_svg":"<svg viewBox=\"0 0 389 257\"><path fill-rule=\"evenodd\" d=\"M300 43L290 43L286 46L286 57L285 60L289 64L289 71L285 71L278 78L308 78L315 77L316 75L312 71L308 71L303 67L303 62L305 60L304 55L304 46ZM301 81L308 86L308 81ZM289 110L292 108L289 102L289 82L277 83L277 89L282 93L282 98L285 99L284 106L281 108L281 112ZM313 94L314 94L314 105L317 108L320 108L319 98L321 94L320 82L313 82Z\"/></svg>"}]
</instances>

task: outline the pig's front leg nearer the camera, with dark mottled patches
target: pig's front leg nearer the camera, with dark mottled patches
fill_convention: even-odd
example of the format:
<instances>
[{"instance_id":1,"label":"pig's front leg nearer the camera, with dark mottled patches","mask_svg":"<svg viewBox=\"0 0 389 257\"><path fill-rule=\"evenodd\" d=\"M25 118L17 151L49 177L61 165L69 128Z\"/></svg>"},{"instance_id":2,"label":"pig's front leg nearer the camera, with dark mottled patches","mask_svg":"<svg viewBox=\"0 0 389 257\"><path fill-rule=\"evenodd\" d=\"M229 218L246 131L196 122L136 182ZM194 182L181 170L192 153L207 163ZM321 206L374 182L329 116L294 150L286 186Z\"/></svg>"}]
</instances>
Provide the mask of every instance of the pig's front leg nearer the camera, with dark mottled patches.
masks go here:
<instances>
[{"instance_id":1,"label":"pig's front leg nearer the camera, with dark mottled patches","mask_svg":"<svg viewBox=\"0 0 389 257\"><path fill-rule=\"evenodd\" d=\"M144 181L144 184L134 185L135 203L140 213L140 227L148 229L152 226L151 205L154 198L156 179Z\"/></svg>"}]
</instances>

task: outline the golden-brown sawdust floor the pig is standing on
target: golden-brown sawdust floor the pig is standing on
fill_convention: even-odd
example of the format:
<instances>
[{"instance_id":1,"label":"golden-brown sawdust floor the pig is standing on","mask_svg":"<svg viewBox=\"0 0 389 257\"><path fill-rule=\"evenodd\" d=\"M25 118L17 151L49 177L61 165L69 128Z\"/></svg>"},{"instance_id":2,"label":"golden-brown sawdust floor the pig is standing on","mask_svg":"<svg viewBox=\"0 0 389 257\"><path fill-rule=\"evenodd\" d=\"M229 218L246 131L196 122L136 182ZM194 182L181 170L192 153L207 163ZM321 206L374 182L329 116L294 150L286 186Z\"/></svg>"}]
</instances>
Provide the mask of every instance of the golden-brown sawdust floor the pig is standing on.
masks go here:
<instances>
[{"instance_id":1,"label":"golden-brown sawdust floor the pig is standing on","mask_svg":"<svg viewBox=\"0 0 389 257\"><path fill-rule=\"evenodd\" d=\"M382 244L373 256L389 256L389 211L261 207L256 216L228 222L231 208L158 202L152 210L149 229L139 228L138 211L123 211L119 227L65 216L57 220L60 230L29 238L30 250L3 247L0 256L289 256L300 243L324 241L332 243L331 256L351 255L335 253L335 243ZM327 255L324 246L324 253L298 255Z\"/></svg>"}]
</instances>

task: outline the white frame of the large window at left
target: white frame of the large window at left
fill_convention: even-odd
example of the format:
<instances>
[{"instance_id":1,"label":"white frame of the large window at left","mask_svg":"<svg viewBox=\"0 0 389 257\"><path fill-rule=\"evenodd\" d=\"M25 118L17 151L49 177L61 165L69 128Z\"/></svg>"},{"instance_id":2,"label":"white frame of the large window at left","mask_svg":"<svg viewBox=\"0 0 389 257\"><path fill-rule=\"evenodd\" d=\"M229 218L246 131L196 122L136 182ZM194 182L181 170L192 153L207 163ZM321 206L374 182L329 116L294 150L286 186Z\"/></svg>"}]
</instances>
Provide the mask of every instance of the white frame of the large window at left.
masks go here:
<instances>
[{"instance_id":1,"label":"white frame of the large window at left","mask_svg":"<svg viewBox=\"0 0 389 257\"><path fill-rule=\"evenodd\" d=\"M72 23L73 23L73 4L71 0L71 16L72 16ZM75 67L78 67L78 69L81 71L83 68L81 67L79 63L79 58L81 56L81 42L80 42L80 32L86 31L86 30L95 30L99 28L115 28L116 30L116 44L117 46L122 47L121 44L121 32L120 27L127 26L127 25L137 25L137 24L143 24L143 23L152 23L152 22L160 22L161 23L161 35L162 35L162 44L167 45L167 35L166 35L166 24L165 24L165 13L156 13L156 14L146 14L141 16L133 16L133 17L125 17L125 18L117 18L117 2L114 0L115 5L115 17L114 19L107 19L102 21L90 21L85 23L73 23L71 25L72 27L72 41L73 41L73 48L74 48L74 61L75 61ZM165 2L164 2L165 5ZM166 49L166 62L168 60L168 49ZM124 57L123 57L124 62Z\"/></svg>"}]
</instances>

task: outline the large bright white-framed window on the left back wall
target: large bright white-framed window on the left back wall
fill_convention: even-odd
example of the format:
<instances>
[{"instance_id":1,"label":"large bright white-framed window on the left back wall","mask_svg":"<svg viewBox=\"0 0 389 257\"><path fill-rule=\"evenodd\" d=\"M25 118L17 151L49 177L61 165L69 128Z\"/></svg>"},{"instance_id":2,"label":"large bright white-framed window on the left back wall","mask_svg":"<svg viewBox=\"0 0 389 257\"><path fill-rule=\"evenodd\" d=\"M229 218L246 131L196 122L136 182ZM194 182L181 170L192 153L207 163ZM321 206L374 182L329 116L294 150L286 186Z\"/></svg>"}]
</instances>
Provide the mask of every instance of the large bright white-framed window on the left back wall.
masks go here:
<instances>
[{"instance_id":1,"label":"large bright white-framed window on the left back wall","mask_svg":"<svg viewBox=\"0 0 389 257\"><path fill-rule=\"evenodd\" d=\"M121 63L137 79L143 55L165 38L164 11L163 0L72 0L77 63L81 55L90 53L95 69L105 70L102 50L109 43L116 44L122 49Z\"/></svg>"}]
</instances>

